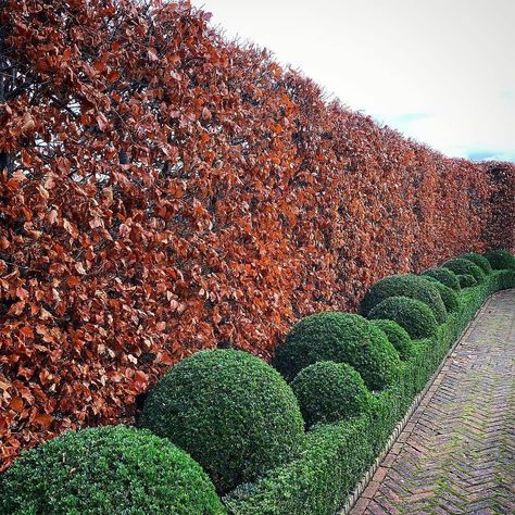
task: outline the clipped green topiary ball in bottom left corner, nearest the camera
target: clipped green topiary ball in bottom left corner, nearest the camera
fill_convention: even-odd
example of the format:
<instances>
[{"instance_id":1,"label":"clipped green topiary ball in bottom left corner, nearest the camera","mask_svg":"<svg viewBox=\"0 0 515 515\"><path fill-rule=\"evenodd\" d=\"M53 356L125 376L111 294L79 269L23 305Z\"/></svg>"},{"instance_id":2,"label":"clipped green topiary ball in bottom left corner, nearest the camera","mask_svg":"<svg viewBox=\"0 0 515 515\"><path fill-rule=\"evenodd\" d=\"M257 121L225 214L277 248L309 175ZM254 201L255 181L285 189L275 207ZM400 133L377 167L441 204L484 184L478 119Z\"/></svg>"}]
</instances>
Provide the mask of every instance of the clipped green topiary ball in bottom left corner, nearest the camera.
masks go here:
<instances>
[{"instance_id":1,"label":"clipped green topiary ball in bottom left corner, nearest the camera","mask_svg":"<svg viewBox=\"0 0 515 515\"><path fill-rule=\"evenodd\" d=\"M200 465L146 430L70 431L0 476L2 514L224 514Z\"/></svg>"}]
</instances>

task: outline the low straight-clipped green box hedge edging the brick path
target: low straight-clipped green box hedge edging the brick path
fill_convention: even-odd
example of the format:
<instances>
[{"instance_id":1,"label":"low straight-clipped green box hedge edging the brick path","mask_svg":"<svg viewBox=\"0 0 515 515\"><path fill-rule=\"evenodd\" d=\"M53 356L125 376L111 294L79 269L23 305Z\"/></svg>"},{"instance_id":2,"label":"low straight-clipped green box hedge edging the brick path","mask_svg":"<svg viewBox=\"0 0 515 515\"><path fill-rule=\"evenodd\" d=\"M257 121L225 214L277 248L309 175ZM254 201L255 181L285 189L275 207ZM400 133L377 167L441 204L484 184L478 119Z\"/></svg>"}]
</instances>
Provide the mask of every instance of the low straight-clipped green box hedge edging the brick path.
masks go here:
<instances>
[{"instance_id":1,"label":"low straight-clipped green box hedge edging the brick path","mask_svg":"<svg viewBox=\"0 0 515 515\"><path fill-rule=\"evenodd\" d=\"M430 339L413 342L414 352L401 368L398 380L379 393L372 413L315 426L307 432L303 453L297 460L227 495L224 502L228 513L327 515L337 512L485 299L494 291L513 287L515 271L503 271L493 272L482 284L464 290L459 312L451 313Z\"/></svg>"}]
</instances>

